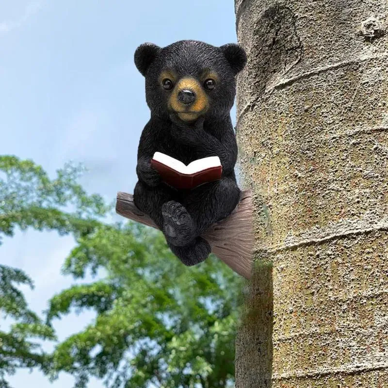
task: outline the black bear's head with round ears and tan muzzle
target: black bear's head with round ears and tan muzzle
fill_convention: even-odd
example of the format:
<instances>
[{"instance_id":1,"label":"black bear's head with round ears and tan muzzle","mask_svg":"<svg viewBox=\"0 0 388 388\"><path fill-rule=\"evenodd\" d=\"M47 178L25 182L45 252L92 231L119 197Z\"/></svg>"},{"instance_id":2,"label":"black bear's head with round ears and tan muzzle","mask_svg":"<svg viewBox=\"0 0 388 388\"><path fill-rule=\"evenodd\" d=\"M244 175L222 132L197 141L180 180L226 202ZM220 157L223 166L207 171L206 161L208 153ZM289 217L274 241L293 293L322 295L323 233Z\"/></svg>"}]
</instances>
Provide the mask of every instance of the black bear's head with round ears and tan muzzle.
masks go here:
<instances>
[{"instance_id":1,"label":"black bear's head with round ears and tan muzzle","mask_svg":"<svg viewBox=\"0 0 388 388\"><path fill-rule=\"evenodd\" d=\"M221 47L181 40L161 48L140 45L135 65L146 78L146 101L151 113L185 122L199 116L223 118L236 95L235 76L246 63L245 51L235 43Z\"/></svg>"}]
</instances>

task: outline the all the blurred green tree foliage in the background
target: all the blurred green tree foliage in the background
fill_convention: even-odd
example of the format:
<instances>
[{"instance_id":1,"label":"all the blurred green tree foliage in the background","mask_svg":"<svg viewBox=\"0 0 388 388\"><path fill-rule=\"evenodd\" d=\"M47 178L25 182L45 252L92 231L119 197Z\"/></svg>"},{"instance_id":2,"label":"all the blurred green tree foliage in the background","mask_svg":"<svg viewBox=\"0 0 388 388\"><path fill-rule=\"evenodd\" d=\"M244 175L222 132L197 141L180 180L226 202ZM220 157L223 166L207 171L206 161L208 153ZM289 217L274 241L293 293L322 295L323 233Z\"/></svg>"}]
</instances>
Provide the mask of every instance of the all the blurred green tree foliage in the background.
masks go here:
<instances>
[{"instance_id":1,"label":"all the blurred green tree foliage in the background","mask_svg":"<svg viewBox=\"0 0 388 388\"><path fill-rule=\"evenodd\" d=\"M32 280L0 265L0 312L16 322L0 331L0 386L18 367L39 367L52 380L72 374L79 388L91 376L110 388L231 387L241 279L212 256L185 267L161 232L102 223L106 207L98 195L86 195L80 173L67 165L49 179L31 161L0 157L0 237L28 227L70 233L76 246L64 273L107 274L55 295L42 322L18 289ZM36 339L55 339L55 320L74 308L97 317L45 354Z\"/></svg>"}]
</instances>

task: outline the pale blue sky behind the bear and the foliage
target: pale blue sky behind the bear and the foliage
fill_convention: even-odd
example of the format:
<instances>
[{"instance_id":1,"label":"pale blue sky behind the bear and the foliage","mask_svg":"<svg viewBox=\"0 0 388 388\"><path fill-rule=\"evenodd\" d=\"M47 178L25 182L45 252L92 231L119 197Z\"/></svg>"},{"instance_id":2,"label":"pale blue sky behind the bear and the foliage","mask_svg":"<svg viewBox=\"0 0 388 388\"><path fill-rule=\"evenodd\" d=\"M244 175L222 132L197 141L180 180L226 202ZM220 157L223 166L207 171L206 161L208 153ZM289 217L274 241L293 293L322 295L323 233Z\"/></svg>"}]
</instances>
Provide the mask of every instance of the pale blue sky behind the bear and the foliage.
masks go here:
<instances>
[{"instance_id":1,"label":"pale blue sky behind the bear and the foliage","mask_svg":"<svg viewBox=\"0 0 388 388\"><path fill-rule=\"evenodd\" d=\"M109 202L117 191L133 193L149 119L133 54L143 42L163 47L181 39L236 42L234 1L0 0L0 154L32 159L51 177L65 162L82 162L89 193ZM231 116L234 124L234 107ZM60 274L73 246L55 232L3 239L0 262L35 282L33 291L23 288L34 311L75 283ZM54 327L63 340L93 319L70 314ZM41 372L23 370L9 381L14 388L71 388L74 379L61 374L50 384ZM92 379L89 387L103 385Z\"/></svg>"}]
</instances>

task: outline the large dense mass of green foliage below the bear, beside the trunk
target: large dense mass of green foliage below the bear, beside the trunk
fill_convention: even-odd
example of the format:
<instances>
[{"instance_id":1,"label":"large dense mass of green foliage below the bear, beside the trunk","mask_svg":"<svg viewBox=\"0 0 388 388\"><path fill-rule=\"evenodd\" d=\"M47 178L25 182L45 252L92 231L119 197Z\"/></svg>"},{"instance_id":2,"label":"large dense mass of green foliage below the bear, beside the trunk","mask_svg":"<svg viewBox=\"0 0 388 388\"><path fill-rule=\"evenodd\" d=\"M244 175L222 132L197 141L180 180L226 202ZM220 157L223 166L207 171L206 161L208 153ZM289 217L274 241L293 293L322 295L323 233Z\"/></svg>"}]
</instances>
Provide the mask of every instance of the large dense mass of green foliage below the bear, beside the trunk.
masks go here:
<instances>
[{"instance_id":1,"label":"large dense mass of green foliage below the bear, beside the trunk","mask_svg":"<svg viewBox=\"0 0 388 388\"><path fill-rule=\"evenodd\" d=\"M72 307L97 318L60 343L60 371L86 387L89 376L112 388L233 386L234 340L241 280L215 257L185 267L159 231L126 223L83 236L65 262L82 278L102 267L107 277L74 286L50 301L53 323Z\"/></svg>"}]
</instances>

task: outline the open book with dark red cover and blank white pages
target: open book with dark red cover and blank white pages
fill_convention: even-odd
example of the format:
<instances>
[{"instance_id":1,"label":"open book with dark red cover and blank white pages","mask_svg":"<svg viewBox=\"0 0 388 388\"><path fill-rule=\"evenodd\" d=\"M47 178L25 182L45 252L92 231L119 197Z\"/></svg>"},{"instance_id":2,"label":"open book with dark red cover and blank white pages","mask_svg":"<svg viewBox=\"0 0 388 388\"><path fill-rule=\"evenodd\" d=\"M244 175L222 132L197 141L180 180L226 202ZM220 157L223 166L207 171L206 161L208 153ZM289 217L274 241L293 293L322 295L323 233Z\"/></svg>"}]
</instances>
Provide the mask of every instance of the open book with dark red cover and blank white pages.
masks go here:
<instances>
[{"instance_id":1,"label":"open book with dark red cover and blank white pages","mask_svg":"<svg viewBox=\"0 0 388 388\"><path fill-rule=\"evenodd\" d=\"M202 183L220 179L222 173L218 156L197 159L186 166L171 156L155 152L151 166L159 172L164 182L177 189L193 189Z\"/></svg>"}]
</instances>

